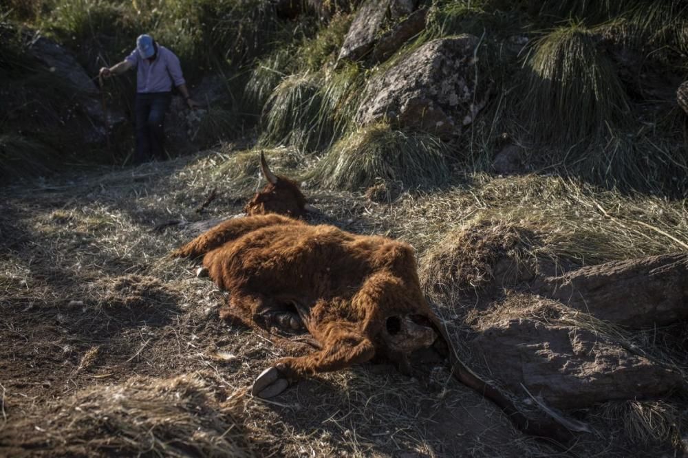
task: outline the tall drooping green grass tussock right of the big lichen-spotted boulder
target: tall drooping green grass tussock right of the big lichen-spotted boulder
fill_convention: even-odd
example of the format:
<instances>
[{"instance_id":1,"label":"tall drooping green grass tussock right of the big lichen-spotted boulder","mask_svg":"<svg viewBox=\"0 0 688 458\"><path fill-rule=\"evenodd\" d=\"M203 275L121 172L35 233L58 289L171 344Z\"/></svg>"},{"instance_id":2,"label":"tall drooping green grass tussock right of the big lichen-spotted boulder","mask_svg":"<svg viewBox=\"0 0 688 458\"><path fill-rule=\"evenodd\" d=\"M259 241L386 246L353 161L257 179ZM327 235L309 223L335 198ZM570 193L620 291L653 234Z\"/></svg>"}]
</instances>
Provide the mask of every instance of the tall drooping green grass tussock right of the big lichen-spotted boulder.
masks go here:
<instances>
[{"instance_id":1,"label":"tall drooping green grass tussock right of the big lichen-spotted boulder","mask_svg":"<svg viewBox=\"0 0 688 458\"><path fill-rule=\"evenodd\" d=\"M537 141L590 143L625 124L627 95L582 25L560 27L537 40L526 69L521 111Z\"/></svg>"}]
</instances>

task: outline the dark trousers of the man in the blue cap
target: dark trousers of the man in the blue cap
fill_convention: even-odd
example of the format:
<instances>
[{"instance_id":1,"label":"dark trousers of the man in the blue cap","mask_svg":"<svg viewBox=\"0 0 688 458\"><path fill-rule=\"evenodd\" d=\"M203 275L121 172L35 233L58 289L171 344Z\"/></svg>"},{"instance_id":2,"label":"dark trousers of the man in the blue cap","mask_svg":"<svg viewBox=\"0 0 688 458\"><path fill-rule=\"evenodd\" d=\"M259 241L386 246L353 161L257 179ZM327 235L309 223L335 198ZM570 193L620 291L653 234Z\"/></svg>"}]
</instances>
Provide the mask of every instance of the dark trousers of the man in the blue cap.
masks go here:
<instances>
[{"instance_id":1,"label":"dark trousers of the man in the blue cap","mask_svg":"<svg viewBox=\"0 0 688 458\"><path fill-rule=\"evenodd\" d=\"M165 157L165 111L170 106L169 92L136 94L136 155L137 163Z\"/></svg>"}]
</instances>

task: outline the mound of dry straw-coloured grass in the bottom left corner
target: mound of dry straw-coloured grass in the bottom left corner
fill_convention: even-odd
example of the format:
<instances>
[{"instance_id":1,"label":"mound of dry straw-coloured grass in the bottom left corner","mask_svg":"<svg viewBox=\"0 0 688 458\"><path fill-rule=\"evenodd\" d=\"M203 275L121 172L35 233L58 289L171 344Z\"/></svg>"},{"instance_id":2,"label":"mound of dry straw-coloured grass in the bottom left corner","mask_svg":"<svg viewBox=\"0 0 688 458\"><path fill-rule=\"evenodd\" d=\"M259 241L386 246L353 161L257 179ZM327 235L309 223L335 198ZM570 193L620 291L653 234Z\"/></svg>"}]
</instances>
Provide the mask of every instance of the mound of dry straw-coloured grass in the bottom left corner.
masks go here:
<instances>
[{"instance_id":1,"label":"mound of dry straw-coloured grass in the bottom left corner","mask_svg":"<svg viewBox=\"0 0 688 458\"><path fill-rule=\"evenodd\" d=\"M40 425L41 433L13 441L34 451L50 450L53 456L143 450L169 457L254 456L237 406L218 402L217 395L213 380L201 375L93 386L56 402L47 418L19 420L35 423L36 430Z\"/></svg>"}]
</instances>

